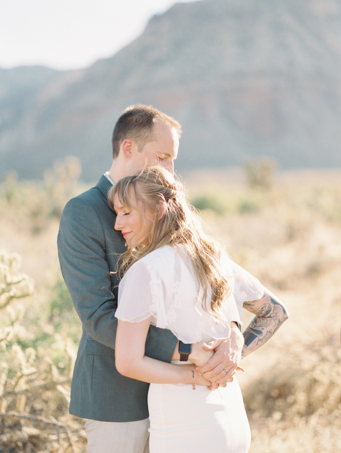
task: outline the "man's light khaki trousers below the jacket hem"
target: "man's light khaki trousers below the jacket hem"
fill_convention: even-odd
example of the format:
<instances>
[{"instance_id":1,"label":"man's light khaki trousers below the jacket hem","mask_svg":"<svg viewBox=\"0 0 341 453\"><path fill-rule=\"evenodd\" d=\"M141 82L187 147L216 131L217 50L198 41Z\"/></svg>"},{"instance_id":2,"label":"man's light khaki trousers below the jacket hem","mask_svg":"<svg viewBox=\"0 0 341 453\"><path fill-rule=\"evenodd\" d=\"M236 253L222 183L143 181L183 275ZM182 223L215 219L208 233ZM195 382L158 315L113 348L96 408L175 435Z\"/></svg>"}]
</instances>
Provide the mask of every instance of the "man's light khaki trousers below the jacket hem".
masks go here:
<instances>
[{"instance_id":1,"label":"man's light khaki trousers below the jacket hem","mask_svg":"<svg viewBox=\"0 0 341 453\"><path fill-rule=\"evenodd\" d=\"M149 418L116 423L87 420L87 453L149 453Z\"/></svg>"}]
</instances>

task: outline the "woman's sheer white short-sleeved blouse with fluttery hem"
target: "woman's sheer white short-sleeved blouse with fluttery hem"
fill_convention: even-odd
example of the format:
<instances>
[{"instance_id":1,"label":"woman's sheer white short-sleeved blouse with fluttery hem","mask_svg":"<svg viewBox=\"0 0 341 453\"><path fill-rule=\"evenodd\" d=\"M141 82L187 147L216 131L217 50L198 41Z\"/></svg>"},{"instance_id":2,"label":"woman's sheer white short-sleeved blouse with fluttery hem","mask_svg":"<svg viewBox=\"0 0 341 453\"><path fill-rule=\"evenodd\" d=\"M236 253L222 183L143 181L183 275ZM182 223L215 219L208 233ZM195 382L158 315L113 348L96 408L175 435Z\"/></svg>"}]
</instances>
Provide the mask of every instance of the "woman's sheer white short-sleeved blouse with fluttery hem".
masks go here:
<instances>
[{"instance_id":1,"label":"woman's sheer white short-sleeved blouse with fluttery hem","mask_svg":"<svg viewBox=\"0 0 341 453\"><path fill-rule=\"evenodd\" d=\"M223 268L232 288L221 306L217 321L202 308L203 289L197 283L185 248L164 245L136 261L118 287L116 318L139 322L150 316L152 323L170 329L184 343L228 338L231 321L241 323L243 302L260 299L264 287L227 257ZM208 294L207 309L210 309Z\"/></svg>"}]
</instances>

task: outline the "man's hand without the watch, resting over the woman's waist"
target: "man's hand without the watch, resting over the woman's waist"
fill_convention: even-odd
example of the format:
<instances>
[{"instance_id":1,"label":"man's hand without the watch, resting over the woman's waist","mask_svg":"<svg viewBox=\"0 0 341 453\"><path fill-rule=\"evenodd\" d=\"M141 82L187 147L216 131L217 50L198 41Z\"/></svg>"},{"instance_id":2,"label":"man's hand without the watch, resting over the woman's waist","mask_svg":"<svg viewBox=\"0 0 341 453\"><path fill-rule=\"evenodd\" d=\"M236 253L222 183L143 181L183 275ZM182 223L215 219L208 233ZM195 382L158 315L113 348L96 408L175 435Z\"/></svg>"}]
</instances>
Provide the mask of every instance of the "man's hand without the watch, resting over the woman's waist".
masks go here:
<instances>
[{"instance_id":1,"label":"man's hand without the watch, resting over the woman's waist","mask_svg":"<svg viewBox=\"0 0 341 453\"><path fill-rule=\"evenodd\" d=\"M227 340L212 340L205 345L208 351L215 351L208 362L200 366L198 371L203 377L216 384L230 381L234 372L243 368L238 367L242 357L244 337L235 322L231 322L231 335Z\"/></svg>"}]
</instances>

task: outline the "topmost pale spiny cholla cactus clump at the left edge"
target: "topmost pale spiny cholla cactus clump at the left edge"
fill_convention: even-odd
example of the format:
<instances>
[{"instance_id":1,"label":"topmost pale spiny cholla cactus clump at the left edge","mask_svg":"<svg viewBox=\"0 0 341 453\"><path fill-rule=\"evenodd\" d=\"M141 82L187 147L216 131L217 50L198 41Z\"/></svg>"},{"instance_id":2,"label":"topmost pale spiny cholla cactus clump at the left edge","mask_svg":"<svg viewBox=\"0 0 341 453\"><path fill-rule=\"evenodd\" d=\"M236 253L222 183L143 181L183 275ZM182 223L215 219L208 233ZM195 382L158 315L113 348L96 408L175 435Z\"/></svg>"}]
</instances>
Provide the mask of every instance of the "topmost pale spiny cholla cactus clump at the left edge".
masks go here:
<instances>
[{"instance_id":1,"label":"topmost pale spiny cholla cactus clump at the left edge","mask_svg":"<svg viewBox=\"0 0 341 453\"><path fill-rule=\"evenodd\" d=\"M12 299L33 294L34 282L26 274L19 273L21 259L18 254L0 251L0 309Z\"/></svg>"}]
</instances>

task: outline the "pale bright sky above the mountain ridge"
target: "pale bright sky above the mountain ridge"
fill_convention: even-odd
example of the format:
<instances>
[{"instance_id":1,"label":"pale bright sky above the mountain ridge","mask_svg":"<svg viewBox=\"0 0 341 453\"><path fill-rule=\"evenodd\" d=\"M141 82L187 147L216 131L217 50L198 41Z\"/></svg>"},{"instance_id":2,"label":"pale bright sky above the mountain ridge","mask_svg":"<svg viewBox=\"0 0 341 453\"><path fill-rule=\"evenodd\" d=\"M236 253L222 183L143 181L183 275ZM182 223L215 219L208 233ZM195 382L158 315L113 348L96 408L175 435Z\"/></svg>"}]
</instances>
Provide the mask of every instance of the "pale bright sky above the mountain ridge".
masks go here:
<instances>
[{"instance_id":1,"label":"pale bright sky above the mountain ridge","mask_svg":"<svg viewBox=\"0 0 341 453\"><path fill-rule=\"evenodd\" d=\"M154 14L195 0L0 0L0 68L67 70L113 56Z\"/></svg>"}]
</instances>

